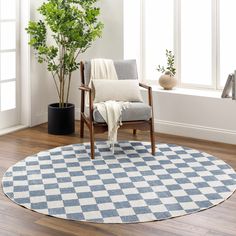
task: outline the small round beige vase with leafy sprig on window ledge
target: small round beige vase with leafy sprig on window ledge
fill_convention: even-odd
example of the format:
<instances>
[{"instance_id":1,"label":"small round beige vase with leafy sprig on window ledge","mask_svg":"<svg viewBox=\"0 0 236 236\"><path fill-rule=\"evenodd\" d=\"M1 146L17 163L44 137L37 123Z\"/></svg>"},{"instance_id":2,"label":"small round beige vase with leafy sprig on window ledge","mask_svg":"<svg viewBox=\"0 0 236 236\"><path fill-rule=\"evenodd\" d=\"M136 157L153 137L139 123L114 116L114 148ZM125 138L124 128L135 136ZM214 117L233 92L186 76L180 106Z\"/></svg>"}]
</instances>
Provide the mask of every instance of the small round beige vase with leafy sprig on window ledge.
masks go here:
<instances>
[{"instance_id":1,"label":"small round beige vase with leafy sprig on window ledge","mask_svg":"<svg viewBox=\"0 0 236 236\"><path fill-rule=\"evenodd\" d=\"M157 71L164 73L159 78L159 84L166 90L171 90L176 86L177 80L175 78L176 68L175 68L175 56L172 51L166 49L167 67L157 66Z\"/></svg>"}]
</instances>

